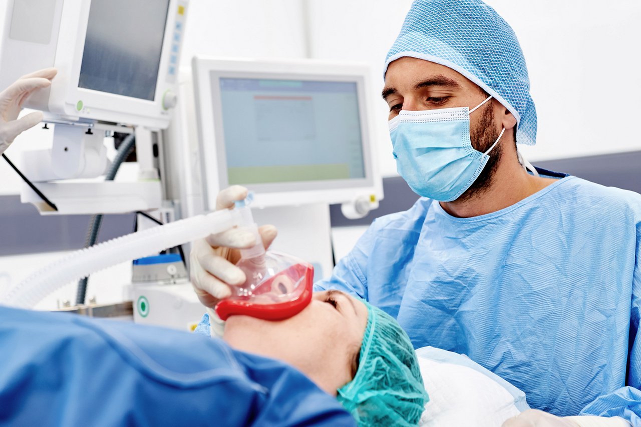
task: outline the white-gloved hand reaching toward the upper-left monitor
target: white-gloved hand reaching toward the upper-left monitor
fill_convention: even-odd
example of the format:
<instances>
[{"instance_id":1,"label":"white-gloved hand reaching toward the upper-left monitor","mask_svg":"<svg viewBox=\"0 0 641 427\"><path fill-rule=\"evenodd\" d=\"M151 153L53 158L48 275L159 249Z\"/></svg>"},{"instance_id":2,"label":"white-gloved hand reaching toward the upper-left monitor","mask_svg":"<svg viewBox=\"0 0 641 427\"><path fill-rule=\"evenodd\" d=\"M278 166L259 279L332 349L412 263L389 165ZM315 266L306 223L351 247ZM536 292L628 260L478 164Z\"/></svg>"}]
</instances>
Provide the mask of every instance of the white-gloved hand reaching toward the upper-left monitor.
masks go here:
<instances>
[{"instance_id":1,"label":"white-gloved hand reaching toward the upper-left monitor","mask_svg":"<svg viewBox=\"0 0 641 427\"><path fill-rule=\"evenodd\" d=\"M24 101L38 89L51 86L56 68L45 68L17 79L0 93L0 154L6 150L16 136L42 122L42 112L34 111L17 120Z\"/></svg>"}]
</instances>

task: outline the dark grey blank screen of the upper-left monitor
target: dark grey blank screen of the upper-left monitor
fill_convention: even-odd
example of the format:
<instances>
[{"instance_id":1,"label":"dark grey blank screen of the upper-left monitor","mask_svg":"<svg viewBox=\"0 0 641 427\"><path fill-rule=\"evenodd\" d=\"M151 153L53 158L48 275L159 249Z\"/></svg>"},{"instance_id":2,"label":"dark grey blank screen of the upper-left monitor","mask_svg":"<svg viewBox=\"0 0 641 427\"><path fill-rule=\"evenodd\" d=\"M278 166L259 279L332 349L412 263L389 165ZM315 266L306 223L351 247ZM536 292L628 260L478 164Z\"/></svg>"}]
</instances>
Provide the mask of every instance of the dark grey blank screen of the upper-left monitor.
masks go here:
<instances>
[{"instance_id":1,"label":"dark grey blank screen of the upper-left monitor","mask_svg":"<svg viewBox=\"0 0 641 427\"><path fill-rule=\"evenodd\" d=\"M169 0L92 0L78 87L154 100Z\"/></svg>"}]
</instances>

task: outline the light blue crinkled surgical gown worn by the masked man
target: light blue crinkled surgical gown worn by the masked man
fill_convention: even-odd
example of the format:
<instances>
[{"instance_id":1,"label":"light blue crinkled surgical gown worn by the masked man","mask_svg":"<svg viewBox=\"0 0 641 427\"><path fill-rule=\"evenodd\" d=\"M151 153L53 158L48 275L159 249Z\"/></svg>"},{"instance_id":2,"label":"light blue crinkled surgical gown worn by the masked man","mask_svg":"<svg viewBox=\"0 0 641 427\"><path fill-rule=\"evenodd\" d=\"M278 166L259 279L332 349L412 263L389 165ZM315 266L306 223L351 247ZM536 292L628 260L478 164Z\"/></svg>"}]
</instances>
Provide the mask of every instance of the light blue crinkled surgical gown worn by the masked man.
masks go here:
<instances>
[{"instance_id":1,"label":"light blue crinkled surgical gown worn by the masked man","mask_svg":"<svg viewBox=\"0 0 641 427\"><path fill-rule=\"evenodd\" d=\"M641 195L540 172L559 179L494 213L420 198L379 218L315 290L358 294L533 408L641 426Z\"/></svg>"}]
</instances>

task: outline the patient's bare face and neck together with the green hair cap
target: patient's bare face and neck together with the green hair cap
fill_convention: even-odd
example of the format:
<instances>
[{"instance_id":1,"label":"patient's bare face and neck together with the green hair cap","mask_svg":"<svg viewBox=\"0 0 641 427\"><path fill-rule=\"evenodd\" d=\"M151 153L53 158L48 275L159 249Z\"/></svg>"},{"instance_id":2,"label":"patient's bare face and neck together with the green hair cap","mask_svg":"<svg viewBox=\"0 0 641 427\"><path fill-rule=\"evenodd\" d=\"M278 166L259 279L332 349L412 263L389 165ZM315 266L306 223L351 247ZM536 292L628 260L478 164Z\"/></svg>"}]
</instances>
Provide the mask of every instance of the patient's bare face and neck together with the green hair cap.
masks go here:
<instances>
[{"instance_id":1,"label":"patient's bare face and neck together with the green hair cap","mask_svg":"<svg viewBox=\"0 0 641 427\"><path fill-rule=\"evenodd\" d=\"M196 332L209 334L208 317ZM340 291L314 293L310 305L283 321L231 316L224 341L296 367L337 396L361 426L416 425L428 401L412 343L401 326Z\"/></svg>"}]
</instances>

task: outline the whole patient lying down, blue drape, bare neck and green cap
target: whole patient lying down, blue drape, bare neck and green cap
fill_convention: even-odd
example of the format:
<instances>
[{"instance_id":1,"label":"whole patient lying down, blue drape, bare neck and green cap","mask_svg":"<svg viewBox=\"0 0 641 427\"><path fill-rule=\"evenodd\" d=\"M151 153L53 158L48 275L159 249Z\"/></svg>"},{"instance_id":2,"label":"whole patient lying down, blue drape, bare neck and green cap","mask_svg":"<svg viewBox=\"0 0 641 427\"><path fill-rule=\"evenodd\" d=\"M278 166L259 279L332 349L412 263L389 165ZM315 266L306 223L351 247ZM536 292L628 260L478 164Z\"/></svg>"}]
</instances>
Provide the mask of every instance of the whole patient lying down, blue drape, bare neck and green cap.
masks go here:
<instances>
[{"instance_id":1,"label":"whole patient lying down, blue drape, bare neck and green cap","mask_svg":"<svg viewBox=\"0 0 641 427\"><path fill-rule=\"evenodd\" d=\"M224 340L0 305L0 424L411 426L427 401L400 326L340 292Z\"/></svg>"}]
</instances>

